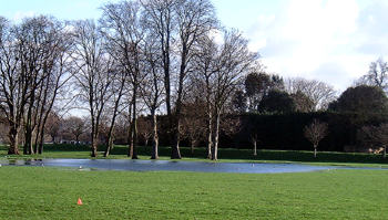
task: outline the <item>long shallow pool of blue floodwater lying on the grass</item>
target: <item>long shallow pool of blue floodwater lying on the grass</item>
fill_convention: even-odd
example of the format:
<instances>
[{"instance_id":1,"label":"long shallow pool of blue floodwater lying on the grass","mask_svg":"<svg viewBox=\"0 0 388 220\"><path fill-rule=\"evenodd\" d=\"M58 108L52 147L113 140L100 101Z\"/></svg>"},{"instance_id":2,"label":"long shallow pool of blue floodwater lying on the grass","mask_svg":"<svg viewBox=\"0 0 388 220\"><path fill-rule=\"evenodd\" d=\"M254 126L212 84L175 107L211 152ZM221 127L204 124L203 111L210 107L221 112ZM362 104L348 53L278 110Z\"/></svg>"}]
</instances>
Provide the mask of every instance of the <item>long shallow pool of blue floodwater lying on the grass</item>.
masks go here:
<instances>
[{"instance_id":1,"label":"long shallow pool of blue floodwater lying on the grass","mask_svg":"<svg viewBox=\"0 0 388 220\"><path fill-rule=\"evenodd\" d=\"M309 166L298 164L251 164L251 163L203 163L171 160L130 159L14 159L0 160L2 166L49 166L73 167L79 169L131 170L131 171L196 171L275 174L305 172L335 169L336 167Z\"/></svg>"}]
</instances>

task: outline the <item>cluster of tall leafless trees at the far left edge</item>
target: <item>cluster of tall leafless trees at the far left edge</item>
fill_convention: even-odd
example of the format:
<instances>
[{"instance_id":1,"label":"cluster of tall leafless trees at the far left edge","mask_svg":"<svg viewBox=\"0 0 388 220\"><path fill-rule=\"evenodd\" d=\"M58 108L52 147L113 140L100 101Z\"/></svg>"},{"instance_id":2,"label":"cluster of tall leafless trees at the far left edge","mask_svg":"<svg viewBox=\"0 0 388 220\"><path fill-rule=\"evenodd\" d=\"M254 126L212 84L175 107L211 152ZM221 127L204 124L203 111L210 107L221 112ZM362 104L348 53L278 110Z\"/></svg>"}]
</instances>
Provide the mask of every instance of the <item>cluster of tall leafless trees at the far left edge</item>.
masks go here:
<instances>
[{"instance_id":1,"label":"cluster of tall leafless trees at the far left edge","mask_svg":"<svg viewBox=\"0 0 388 220\"><path fill-rule=\"evenodd\" d=\"M37 17L16 25L0 19L0 108L10 127L9 154L19 154L21 132L23 153L42 153L47 119L71 77L71 44L55 19Z\"/></svg>"}]
</instances>

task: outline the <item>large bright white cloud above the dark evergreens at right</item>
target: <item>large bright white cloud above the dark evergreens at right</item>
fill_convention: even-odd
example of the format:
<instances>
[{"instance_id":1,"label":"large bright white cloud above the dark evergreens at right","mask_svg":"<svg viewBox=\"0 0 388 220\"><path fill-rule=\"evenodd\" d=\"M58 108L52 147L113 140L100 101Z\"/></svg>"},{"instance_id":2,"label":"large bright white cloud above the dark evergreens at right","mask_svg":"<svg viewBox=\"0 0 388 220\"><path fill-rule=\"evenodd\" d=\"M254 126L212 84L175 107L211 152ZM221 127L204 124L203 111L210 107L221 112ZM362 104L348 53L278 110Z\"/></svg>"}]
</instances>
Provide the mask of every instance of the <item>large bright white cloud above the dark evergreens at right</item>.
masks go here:
<instances>
[{"instance_id":1,"label":"large bright white cloud above the dark evergreens at right","mask_svg":"<svg viewBox=\"0 0 388 220\"><path fill-rule=\"evenodd\" d=\"M283 11L258 15L247 35L269 71L343 91L388 52L387 11L384 1L288 0Z\"/></svg>"}]
</instances>

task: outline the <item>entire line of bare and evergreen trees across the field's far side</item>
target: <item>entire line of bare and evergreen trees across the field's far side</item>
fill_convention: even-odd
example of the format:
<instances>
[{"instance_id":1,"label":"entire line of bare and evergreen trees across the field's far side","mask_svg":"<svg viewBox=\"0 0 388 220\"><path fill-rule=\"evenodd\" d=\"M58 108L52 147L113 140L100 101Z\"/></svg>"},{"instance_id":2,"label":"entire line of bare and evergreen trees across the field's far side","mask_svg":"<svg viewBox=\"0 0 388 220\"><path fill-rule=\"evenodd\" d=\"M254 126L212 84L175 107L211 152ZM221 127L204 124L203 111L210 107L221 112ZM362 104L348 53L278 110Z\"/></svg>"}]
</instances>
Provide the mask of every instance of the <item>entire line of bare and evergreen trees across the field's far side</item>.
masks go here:
<instances>
[{"instance_id":1,"label":"entire line of bare and evergreen trees across the field's far side","mask_svg":"<svg viewBox=\"0 0 388 220\"><path fill-rule=\"evenodd\" d=\"M266 73L242 33L219 23L210 0L122 1L102 12L98 22L34 17L13 24L0 18L0 111L9 154L20 154L19 144L23 154L42 154L45 137L58 142L59 133L62 140L90 143L92 157L99 145L109 156L114 143L125 143L136 159L142 139L151 139L152 159L160 143L181 158L182 140L206 146L210 159L217 159L221 144L244 146L252 138L299 149L306 145L300 135L288 143L274 133L270 140L268 130L302 133L303 118L327 109L363 118L386 102L382 60L338 99L326 83ZM359 99L376 101L376 94L384 101ZM67 116L76 109L88 116ZM331 122L335 113L317 118ZM343 142L325 144L337 129L331 124L323 146L338 150Z\"/></svg>"}]
</instances>

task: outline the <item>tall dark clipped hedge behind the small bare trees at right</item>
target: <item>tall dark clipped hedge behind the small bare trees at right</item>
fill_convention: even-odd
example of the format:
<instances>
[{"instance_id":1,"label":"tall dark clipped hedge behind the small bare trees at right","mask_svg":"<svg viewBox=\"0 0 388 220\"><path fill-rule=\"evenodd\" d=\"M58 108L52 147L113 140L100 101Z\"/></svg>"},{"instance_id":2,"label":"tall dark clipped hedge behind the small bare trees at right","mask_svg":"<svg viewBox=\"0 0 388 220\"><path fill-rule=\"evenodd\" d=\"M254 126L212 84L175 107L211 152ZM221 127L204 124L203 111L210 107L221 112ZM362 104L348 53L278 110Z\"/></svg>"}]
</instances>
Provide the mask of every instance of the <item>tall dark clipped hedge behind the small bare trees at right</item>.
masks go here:
<instances>
[{"instance_id":1,"label":"tall dark clipped hedge behind the small bare trees at right","mask_svg":"<svg viewBox=\"0 0 388 220\"><path fill-rule=\"evenodd\" d=\"M304 127L315 118L328 124L328 135L319 144L319 150L343 151L345 146L365 150L367 146L363 146L357 132L363 126L387 122L388 115L331 112L246 114L241 115L242 129L233 138L239 142L239 147L249 147L252 144L247 140L256 133L258 146L263 148L309 150L312 145L304 137Z\"/></svg>"}]
</instances>

